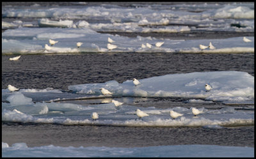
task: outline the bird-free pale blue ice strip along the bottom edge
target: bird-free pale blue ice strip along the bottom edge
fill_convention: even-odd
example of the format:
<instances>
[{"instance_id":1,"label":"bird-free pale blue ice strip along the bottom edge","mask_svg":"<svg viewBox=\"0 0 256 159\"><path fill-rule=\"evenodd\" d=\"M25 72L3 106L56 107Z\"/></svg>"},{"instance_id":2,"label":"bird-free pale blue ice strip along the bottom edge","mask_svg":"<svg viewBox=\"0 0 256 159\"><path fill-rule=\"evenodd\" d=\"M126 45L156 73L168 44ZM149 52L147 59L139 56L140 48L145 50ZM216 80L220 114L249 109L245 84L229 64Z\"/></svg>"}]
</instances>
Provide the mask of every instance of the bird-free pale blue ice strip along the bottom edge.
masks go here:
<instances>
[{"instance_id":1,"label":"bird-free pale blue ice strip along the bottom edge","mask_svg":"<svg viewBox=\"0 0 256 159\"><path fill-rule=\"evenodd\" d=\"M186 151L184 151L186 149ZM79 148L60 146L40 146L28 148L26 143L9 146L2 142L2 157L253 157L254 148L215 146L215 145L177 145L150 146L143 148Z\"/></svg>"}]
</instances>

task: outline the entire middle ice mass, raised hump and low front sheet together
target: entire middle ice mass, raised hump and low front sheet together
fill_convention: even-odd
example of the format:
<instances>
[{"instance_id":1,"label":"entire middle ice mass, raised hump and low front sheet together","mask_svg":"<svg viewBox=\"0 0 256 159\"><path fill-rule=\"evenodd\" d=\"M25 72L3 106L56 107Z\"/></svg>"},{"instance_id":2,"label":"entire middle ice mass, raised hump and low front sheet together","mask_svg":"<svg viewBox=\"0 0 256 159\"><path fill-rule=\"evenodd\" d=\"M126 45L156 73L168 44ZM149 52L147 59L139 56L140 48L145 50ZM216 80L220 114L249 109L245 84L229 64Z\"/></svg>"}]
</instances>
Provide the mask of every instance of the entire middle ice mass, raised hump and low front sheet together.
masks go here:
<instances>
[{"instance_id":1,"label":"entire middle ice mass, raised hump and low front sheet together","mask_svg":"<svg viewBox=\"0 0 256 159\"><path fill-rule=\"evenodd\" d=\"M10 93L2 89L2 121L22 123L58 123L61 125L109 125L109 126L241 126L254 124L254 112L224 107L220 110L200 108L204 113L194 117L191 107L135 107L125 103L118 107L111 103L117 97L147 98L188 98L188 103L254 103L254 77L246 72L193 72L163 75L139 79L141 84L134 86L132 80L118 83L111 80L99 84L79 84L68 86L72 93L55 89L20 89ZM205 84L212 90L205 91ZM113 95L101 95L104 87ZM49 98L51 96L51 98ZM36 99L38 102L35 102ZM38 98L41 98L38 100ZM79 105L60 103L70 99L102 99L101 103ZM117 98L118 99L118 98ZM104 102L103 102L104 100ZM39 102L40 101L40 102ZM59 101L59 102L58 102ZM136 109L149 116L138 119ZM184 116L172 119L170 110ZM92 112L99 114L93 121ZM216 128L219 128L219 127Z\"/></svg>"}]
</instances>

